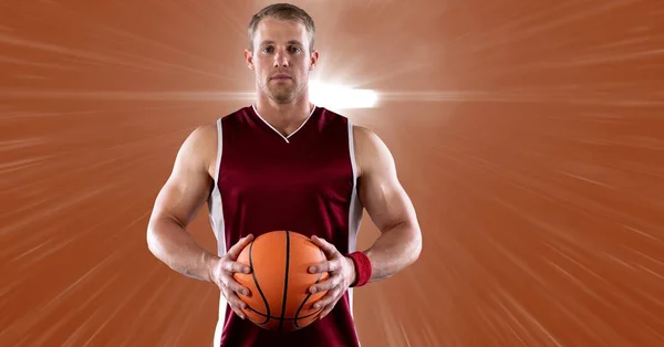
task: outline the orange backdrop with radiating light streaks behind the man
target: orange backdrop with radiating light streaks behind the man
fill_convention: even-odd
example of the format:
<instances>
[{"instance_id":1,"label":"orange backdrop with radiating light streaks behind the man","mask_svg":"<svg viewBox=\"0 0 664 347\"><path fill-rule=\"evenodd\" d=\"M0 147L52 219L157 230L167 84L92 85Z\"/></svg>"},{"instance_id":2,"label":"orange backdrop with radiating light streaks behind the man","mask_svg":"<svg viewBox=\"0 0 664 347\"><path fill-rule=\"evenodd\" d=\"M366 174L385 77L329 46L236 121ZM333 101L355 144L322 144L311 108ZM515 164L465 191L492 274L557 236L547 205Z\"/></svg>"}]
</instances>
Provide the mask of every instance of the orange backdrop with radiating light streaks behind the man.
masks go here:
<instances>
[{"instance_id":1,"label":"orange backdrop with radiating light streaks behind the man","mask_svg":"<svg viewBox=\"0 0 664 347\"><path fill-rule=\"evenodd\" d=\"M365 347L664 345L660 1L298 1L314 77L390 146L419 261ZM264 1L0 4L0 345L208 346L219 292L145 243L197 125L251 102ZM215 249L204 211L190 228ZM365 217L360 246L377 232Z\"/></svg>"}]
</instances>

